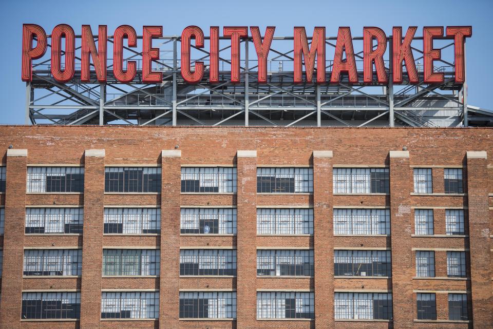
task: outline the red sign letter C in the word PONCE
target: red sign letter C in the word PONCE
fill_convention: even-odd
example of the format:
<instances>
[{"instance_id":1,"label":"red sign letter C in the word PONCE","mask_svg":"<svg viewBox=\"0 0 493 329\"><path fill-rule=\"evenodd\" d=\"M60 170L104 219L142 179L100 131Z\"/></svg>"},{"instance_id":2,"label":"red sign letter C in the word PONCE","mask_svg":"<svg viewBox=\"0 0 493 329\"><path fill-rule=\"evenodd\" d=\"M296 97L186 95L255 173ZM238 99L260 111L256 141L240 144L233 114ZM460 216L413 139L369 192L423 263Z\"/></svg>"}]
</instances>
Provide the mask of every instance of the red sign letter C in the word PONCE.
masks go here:
<instances>
[{"instance_id":1,"label":"red sign letter C in the word PONCE","mask_svg":"<svg viewBox=\"0 0 493 329\"><path fill-rule=\"evenodd\" d=\"M113 75L119 82L127 83L135 78L137 63L127 61L127 69L123 71L123 38L128 38L128 47L137 46L137 33L128 25L120 25L113 36Z\"/></svg>"}]
</instances>

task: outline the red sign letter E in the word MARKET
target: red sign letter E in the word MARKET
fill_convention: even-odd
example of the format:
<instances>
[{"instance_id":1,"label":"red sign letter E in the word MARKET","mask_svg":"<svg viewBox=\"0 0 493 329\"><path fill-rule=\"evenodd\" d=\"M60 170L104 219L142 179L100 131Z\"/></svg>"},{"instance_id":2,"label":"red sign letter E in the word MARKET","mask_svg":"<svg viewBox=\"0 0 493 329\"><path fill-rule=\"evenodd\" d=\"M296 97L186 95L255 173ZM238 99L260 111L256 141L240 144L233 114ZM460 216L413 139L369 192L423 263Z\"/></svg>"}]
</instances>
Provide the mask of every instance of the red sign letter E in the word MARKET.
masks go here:
<instances>
[{"instance_id":1,"label":"red sign letter E in the word MARKET","mask_svg":"<svg viewBox=\"0 0 493 329\"><path fill-rule=\"evenodd\" d=\"M433 72L433 61L439 60L440 49L433 49L433 37L443 36L443 26L423 28L423 76L426 83L443 83L443 73Z\"/></svg>"}]
</instances>

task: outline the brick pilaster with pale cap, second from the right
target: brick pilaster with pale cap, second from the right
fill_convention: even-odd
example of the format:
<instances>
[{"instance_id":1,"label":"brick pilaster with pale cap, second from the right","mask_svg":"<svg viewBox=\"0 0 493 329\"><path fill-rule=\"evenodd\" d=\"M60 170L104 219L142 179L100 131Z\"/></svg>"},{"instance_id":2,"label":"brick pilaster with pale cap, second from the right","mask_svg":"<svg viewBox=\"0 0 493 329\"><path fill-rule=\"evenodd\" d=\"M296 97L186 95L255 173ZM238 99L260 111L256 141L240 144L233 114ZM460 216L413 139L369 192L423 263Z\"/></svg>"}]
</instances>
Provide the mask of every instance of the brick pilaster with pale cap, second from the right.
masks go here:
<instances>
[{"instance_id":1,"label":"brick pilaster with pale cap, second from the right","mask_svg":"<svg viewBox=\"0 0 493 329\"><path fill-rule=\"evenodd\" d=\"M412 169L408 151L390 151L390 241L392 245L392 305L394 328L412 328L415 304L411 233Z\"/></svg>"}]
</instances>

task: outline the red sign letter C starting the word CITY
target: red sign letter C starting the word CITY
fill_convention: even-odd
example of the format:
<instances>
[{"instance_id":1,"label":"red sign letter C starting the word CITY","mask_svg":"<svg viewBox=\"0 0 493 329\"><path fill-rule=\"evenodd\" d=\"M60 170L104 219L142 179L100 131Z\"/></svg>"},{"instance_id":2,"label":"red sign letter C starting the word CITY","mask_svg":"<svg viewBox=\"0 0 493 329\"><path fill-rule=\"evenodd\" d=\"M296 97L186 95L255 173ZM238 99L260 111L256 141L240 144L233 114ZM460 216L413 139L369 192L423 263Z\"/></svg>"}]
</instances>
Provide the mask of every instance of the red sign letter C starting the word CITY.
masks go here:
<instances>
[{"instance_id":1,"label":"red sign letter C starting the word CITY","mask_svg":"<svg viewBox=\"0 0 493 329\"><path fill-rule=\"evenodd\" d=\"M195 71L190 71L190 40L195 38L195 47L204 46L204 32L198 26L187 26L181 33L181 76L189 84L196 84L204 75L204 62L195 62Z\"/></svg>"}]
</instances>

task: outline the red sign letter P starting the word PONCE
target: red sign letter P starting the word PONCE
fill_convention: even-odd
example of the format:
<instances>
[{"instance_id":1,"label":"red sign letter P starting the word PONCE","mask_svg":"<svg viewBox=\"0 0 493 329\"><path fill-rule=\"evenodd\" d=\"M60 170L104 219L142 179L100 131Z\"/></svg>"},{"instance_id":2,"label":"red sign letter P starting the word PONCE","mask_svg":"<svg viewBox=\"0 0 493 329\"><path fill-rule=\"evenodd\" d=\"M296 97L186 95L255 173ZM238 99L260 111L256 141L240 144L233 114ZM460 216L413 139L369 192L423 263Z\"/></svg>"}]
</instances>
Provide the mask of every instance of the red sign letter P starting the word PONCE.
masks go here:
<instances>
[{"instance_id":1,"label":"red sign letter P starting the word PONCE","mask_svg":"<svg viewBox=\"0 0 493 329\"><path fill-rule=\"evenodd\" d=\"M32 41L36 39L36 47L32 48ZM32 60L39 59L46 51L46 32L35 24L22 26L22 81L32 80Z\"/></svg>"}]
</instances>

